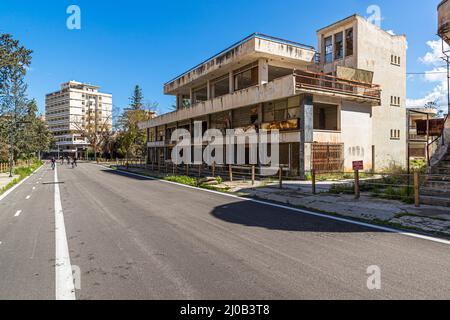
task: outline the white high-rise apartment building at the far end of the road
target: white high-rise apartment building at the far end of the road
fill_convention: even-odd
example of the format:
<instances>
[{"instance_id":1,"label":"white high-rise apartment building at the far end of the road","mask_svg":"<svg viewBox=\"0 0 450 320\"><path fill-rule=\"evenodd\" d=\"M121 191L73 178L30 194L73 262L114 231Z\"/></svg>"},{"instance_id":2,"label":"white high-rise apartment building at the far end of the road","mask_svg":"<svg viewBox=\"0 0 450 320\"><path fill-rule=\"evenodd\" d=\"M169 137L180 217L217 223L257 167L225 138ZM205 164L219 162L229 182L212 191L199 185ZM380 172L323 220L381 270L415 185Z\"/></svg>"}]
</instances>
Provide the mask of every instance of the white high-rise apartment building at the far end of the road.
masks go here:
<instances>
[{"instance_id":1,"label":"white high-rise apartment building at the far end of the road","mask_svg":"<svg viewBox=\"0 0 450 320\"><path fill-rule=\"evenodd\" d=\"M53 154L80 157L92 144L89 136L111 130L112 95L99 88L69 81L46 95L45 119L55 138Z\"/></svg>"}]
</instances>

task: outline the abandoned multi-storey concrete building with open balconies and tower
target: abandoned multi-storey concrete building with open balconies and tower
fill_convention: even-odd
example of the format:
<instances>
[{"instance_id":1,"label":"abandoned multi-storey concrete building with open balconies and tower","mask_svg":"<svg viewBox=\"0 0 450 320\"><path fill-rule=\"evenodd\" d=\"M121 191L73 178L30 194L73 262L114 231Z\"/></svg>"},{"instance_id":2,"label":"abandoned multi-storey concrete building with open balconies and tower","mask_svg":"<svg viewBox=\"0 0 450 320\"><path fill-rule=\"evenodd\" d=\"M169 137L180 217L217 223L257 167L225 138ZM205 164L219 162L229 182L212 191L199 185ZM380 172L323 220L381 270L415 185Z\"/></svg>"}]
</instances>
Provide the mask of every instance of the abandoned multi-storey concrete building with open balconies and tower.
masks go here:
<instances>
[{"instance_id":1,"label":"abandoned multi-storey concrete building with open balconies and tower","mask_svg":"<svg viewBox=\"0 0 450 320\"><path fill-rule=\"evenodd\" d=\"M365 170L406 163L406 37L359 15L317 31L318 48L252 34L164 85L176 111L141 123L148 161L170 160L176 128L279 129L280 163Z\"/></svg>"}]
</instances>

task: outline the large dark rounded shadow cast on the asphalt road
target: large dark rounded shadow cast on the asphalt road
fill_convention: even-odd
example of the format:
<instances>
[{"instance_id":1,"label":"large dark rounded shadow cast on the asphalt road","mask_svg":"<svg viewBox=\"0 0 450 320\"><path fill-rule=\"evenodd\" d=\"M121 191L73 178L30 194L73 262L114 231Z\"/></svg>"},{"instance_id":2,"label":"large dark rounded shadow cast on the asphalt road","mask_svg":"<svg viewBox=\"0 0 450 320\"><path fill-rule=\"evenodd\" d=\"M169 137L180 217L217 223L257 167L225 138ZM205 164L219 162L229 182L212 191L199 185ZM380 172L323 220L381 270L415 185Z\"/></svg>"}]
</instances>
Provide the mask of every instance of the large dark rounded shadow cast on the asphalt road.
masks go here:
<instances>
[{"instance_id":1,"label":"large dark rounded shadow cast on the asphalt road","mask_svg":"<svg viewBox=\"0 0 450 320\"><path fill-rule=\"evenodd\" d=\"M355 224L297 213L288 209L240 201L215 207L217 219L247 227L295 232L385 232Z\"/></svg>"}]
</instances>

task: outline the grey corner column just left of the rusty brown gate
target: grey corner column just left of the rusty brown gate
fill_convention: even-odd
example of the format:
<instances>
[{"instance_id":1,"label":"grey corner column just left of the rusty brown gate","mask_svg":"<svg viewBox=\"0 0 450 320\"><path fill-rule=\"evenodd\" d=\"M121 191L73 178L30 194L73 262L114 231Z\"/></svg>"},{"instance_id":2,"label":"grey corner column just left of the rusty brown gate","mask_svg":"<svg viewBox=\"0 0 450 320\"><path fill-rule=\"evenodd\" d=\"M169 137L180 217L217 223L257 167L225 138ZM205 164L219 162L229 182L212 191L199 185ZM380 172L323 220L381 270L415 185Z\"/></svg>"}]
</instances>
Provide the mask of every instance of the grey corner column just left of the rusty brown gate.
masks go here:
<instances>
[{"instance_id":1,"label":"grey corner column just left of the rusty brown gate","mask_svg":"<svg viewBox=\"0 0 450 320\"><path fill-rule=\"evenodd\" d=\"M312 143L314 142L313 96L305 95L300 102L299 174L305 177L311 171Z\"/></svg>"}]
</instances>

